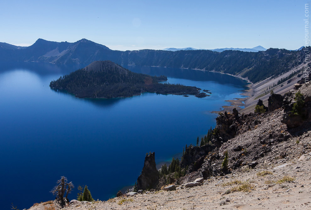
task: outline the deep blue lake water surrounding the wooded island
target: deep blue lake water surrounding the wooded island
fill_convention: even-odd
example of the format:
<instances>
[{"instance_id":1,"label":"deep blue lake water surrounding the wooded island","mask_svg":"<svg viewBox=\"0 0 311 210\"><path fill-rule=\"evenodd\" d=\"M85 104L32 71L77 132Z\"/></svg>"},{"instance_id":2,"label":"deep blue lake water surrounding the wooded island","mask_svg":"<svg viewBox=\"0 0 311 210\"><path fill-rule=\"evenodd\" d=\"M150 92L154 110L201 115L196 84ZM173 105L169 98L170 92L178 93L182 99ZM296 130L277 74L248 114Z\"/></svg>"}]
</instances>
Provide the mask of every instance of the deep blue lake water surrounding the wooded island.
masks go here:
<instances>
[{"instance_id":1,"label":"deep blue lake water surrounding the wooded island","mask_svg":"<svg viewBox=\"0 0 311 210\"><path fill-rule=\"evenodd\" d=\"M146 152L169 161L215 126L225 100L241 97L246 81L220 73L125 66L168 82L208 89L210 97L145 93L131 98L79 99L51 90L53 79L81 66L1 64L0 202L9 209L53 200L49 191L66 176L105 200L135 183ZM5 192L5 193L4 193Z\"/></svg>"}]
</instances>

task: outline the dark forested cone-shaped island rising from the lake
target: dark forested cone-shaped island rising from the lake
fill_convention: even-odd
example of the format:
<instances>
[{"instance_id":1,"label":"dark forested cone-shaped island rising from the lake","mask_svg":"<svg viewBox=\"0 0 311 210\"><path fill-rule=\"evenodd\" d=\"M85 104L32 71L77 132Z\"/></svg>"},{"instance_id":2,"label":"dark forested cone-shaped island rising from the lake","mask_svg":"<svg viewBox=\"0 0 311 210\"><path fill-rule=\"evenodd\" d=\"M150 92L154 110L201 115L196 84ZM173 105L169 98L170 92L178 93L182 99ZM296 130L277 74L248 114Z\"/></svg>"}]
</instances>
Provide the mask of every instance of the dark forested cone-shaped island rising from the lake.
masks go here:
<instances>
[{"instance_id":1,"label":"dark forested cone-shaped island rising from the lake","mask_svg":"<svg viewBox=\"0 0 311 210\"><path fill-rule=\"evenodd\" d=\"M51 81L50 87L67 90L79 98L131 97L144 92L195 95L200 98L208 96L200 93L201 89L197 87L159 83L166 80L166 76L150 76L129 71L112 61L94 61L85 68Z\"/></svg>"}]
</instances>

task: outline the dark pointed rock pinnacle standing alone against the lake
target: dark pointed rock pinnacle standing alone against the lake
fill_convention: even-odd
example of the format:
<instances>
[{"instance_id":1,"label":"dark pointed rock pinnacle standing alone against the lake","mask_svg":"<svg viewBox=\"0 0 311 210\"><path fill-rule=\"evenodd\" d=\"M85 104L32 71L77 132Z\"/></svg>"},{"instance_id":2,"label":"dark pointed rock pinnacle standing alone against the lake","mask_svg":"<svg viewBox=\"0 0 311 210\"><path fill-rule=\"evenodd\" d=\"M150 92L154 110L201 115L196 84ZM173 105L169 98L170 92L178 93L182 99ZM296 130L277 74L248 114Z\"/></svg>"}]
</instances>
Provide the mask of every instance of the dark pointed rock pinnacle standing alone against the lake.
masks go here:
<instances>
[{"instance_id":1,"label":"dark pointed rock pinnacle standing alone against the lake","mask_svg":"<svg viewBox=\"0 0 311 210\"><path fill-rule=\"evenodd\" d=\"M155 153L152 152L145 157L145 163L141 174L137 179L137 189L146 190L155 188L159 182L159 172L156 169Z\"/></svg>"}]
</instances>

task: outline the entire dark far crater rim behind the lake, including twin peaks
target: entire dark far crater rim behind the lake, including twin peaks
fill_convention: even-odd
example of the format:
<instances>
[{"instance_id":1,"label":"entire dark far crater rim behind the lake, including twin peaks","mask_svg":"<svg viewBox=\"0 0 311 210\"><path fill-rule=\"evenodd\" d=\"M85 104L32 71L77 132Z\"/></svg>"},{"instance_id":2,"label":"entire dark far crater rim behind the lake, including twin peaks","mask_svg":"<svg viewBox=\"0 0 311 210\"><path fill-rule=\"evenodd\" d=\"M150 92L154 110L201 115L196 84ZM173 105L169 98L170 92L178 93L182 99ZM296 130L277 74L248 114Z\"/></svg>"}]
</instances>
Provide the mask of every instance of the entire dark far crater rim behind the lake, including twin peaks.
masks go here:
<instances>
[{"instance_id":1,"label":"entire dark far crater rim behind the lake, including twin peaks","mask_svg":"<svg viewBox=\"0 0 311 210\"><path fill-rule=\"evenodd\" d=\"M259 52L150 49L118 51L86 39L81 39L75 43L57 43L38 39L33 45L23 48L16 48L6 43L2 43L2 45L4 47L0 48L0 61L88 65L96 60L111 60L120 65L217 71L248 77L251 82L280 76L303 63L305 53L309 54L311 51L310 47L297 51L270 48Z\"/></svg>"}]
</instances>

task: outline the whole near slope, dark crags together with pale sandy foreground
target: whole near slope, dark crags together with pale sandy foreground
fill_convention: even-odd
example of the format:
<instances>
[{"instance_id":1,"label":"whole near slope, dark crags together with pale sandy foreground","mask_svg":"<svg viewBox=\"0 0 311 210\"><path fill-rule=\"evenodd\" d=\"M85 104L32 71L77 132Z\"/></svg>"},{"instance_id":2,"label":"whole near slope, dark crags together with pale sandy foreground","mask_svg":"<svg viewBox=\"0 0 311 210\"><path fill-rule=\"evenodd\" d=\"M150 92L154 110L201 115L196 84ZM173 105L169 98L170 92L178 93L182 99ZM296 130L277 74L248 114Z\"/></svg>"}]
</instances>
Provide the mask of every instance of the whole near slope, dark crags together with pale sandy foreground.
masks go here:
<instances>
[{"instance_id":1,"label":"whole near slope, dark crags together with pale sandy foreground","mask_svg":"<svg viewBox=\"0 0 311 210\"><path fill-rule=\"evenodd\" d=\"M173 179L170 186L108 201L73 201L65 209L309 209L311 82L296 89L281 98L271 96L273 111L221 114L211 142L187 148L183 158L188 162L181 162L189 164L187 173ZM291 117L288 106L297 103L298 91L305 100L299 114L303 124L292 126L296 119L285 119ZM281 100L282 108L277 108ZM224 169L226 151L228 165ZM30 209L44 207L39 204Z\"/></svg>"}]
</instances>

